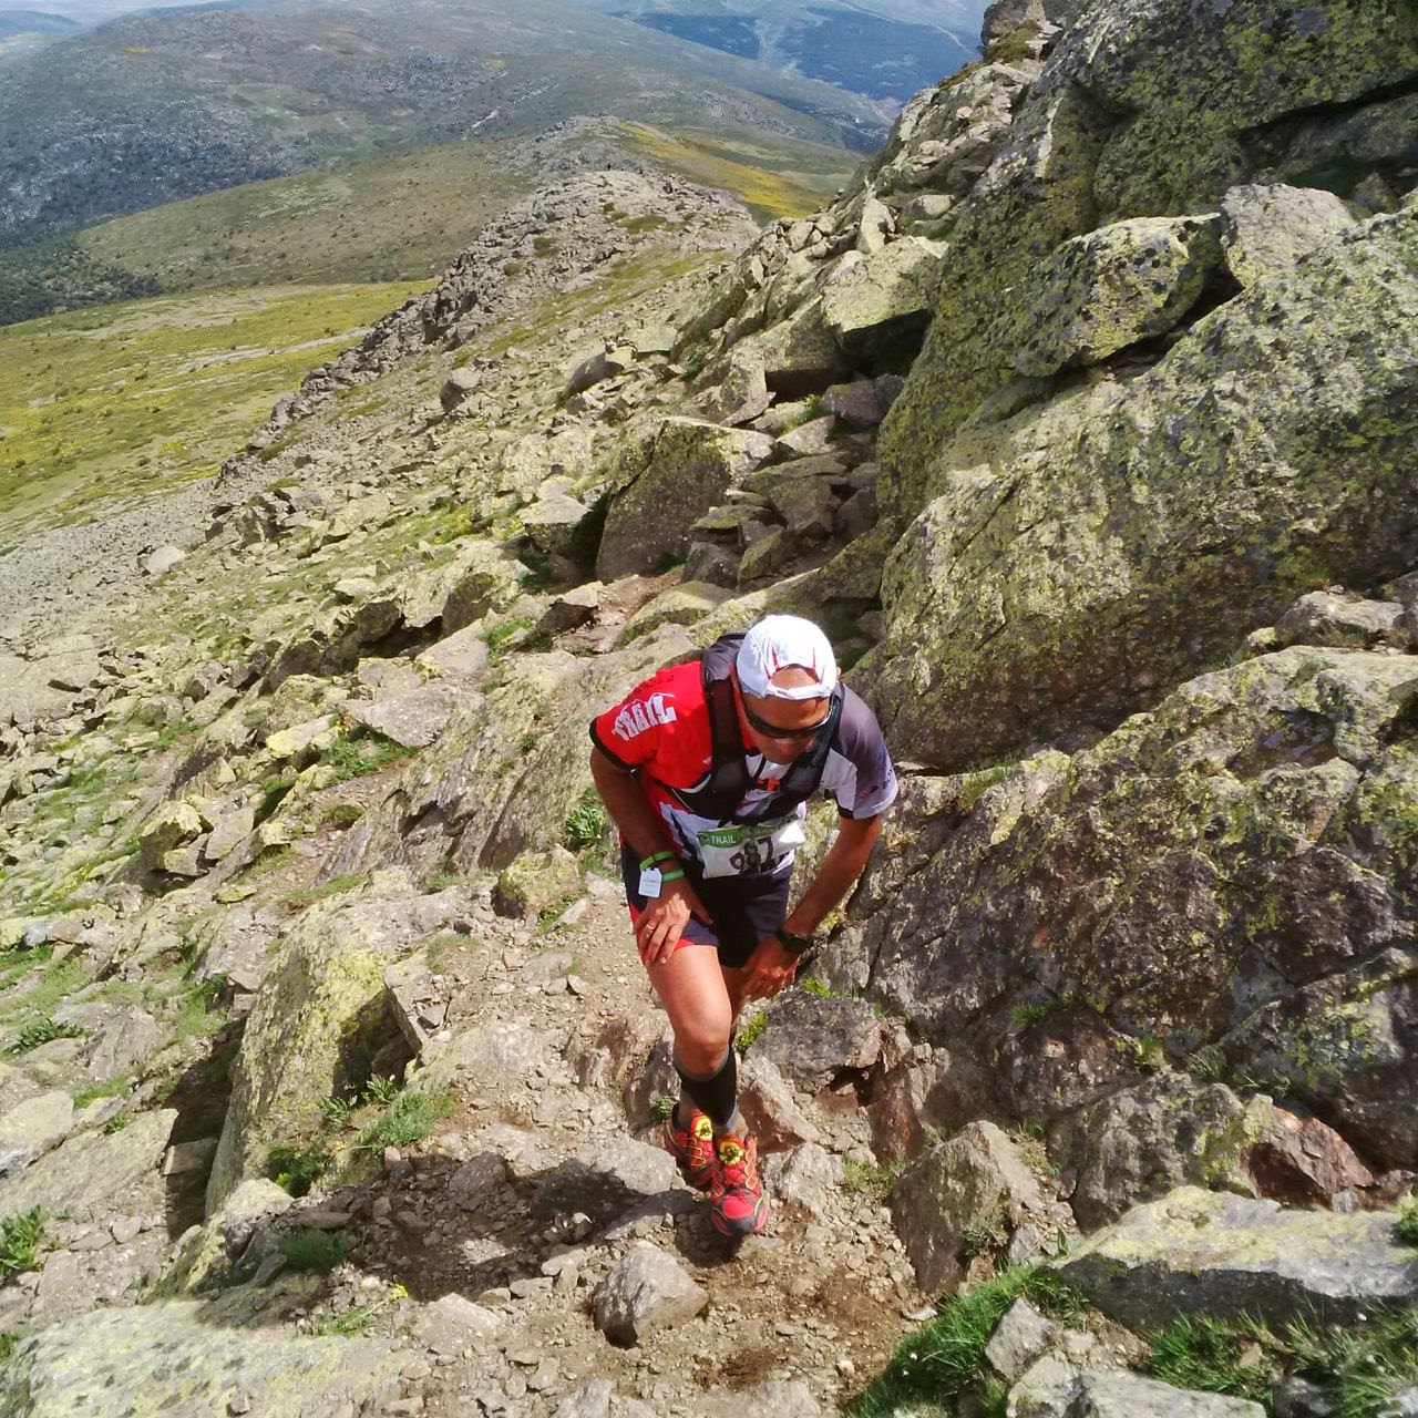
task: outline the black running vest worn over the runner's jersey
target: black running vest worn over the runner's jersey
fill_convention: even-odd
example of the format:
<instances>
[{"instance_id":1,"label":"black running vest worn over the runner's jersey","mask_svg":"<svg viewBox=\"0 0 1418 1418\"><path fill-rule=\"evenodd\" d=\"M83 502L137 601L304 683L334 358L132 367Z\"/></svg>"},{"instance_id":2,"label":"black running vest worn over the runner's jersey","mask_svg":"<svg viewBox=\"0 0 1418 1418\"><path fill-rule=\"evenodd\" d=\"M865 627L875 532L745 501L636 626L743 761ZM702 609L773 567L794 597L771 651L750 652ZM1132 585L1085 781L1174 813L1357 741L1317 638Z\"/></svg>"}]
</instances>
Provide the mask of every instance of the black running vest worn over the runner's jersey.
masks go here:
<instances>
[{"instance_id":1,"label":"black running vest worn over the runner's jersey","mask_svg":"<svg viewBox=\"0 0 1418 1418\"><path fill-rule=\"evenodd\" d=\"M827 723L813 740L813 747L793 761L778 787L763 804L752 813L740 813L743 795L753 787L753 777L743 761L743 735L739 732L733 682L729 678L729 669L739 654L742 640L743 631L720 637L705 651L700 664L713 743L713 759L708 777L693 788L674 788L665 784L665 790L674 794L691 813L719 822L761 822L766 818L783 817L795 811L821 786L827 756L832 750L837 725L842 718L842 689L838 683L831 695Z\"/></svg>"}]
</instances>

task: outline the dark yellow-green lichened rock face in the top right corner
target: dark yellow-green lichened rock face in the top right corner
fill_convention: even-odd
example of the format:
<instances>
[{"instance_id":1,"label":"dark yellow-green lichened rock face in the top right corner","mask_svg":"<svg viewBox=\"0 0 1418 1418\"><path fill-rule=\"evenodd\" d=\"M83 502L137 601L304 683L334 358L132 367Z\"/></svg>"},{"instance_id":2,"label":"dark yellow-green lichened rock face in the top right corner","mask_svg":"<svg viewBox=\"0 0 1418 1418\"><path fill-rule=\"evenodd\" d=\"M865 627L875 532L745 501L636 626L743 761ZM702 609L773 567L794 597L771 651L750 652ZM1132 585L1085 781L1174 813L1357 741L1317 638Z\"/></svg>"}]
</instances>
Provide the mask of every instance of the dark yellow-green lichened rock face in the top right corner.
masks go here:
<instances>
[{"instance_id":1,"label":"dark yellow-green lichened rock face in the top right corner","mask_svg":"<svg viewBox=\"0 0 1418 1418\"><path fill-rule=\"evenodd\" d=\"M1228 189L1290 166L1314 142L1316 112L1391 101L1414 72L1418 38L1401 0L1081 7L1008 145L953 213L934 323L883 430L891 510L920 509L942 447L1011 377L1014 347L994 337L997 322L1061 242L1133 217L1215 211ZM1371 126L1378 160L1401 164L1401 125L1387 142ZM1285 180L1357 180L1346 143L1324 135L1297 164L1307 176Z\"/></svg>"}]
</instances>

